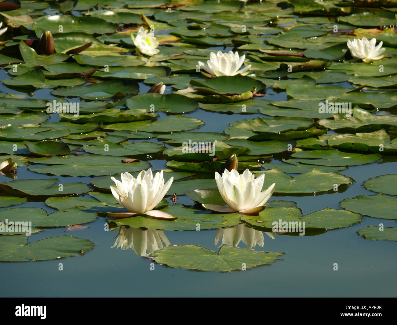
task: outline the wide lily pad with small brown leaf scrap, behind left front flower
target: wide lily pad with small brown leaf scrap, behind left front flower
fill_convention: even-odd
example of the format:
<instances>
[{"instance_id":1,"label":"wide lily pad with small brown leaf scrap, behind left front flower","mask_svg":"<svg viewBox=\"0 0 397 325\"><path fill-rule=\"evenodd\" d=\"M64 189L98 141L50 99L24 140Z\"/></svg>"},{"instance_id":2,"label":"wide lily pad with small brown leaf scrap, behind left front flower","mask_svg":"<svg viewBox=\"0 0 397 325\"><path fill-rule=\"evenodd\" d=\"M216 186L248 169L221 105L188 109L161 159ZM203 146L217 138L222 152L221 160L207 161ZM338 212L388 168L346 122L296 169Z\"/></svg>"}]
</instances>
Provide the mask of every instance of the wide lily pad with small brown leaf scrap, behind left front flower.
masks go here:
<instances>
[{"instance_id":1,"label":"wide lily pad with small brown leaf scrap, behind left front flower","mask_svg":"<svg viewBox=\"0 0 397 325\"><path fill-rule=\"evenodd\" d=\"M29 162L48 164L48 166L29 166L28 169L40 174L77 176L100 176L119 171L140 171L150 167L148 162L123 163L128 159L118 156L79 155L65 157L32 158ZM1 187L1 185L0 185Z\"/></svg>"}]
</instances>

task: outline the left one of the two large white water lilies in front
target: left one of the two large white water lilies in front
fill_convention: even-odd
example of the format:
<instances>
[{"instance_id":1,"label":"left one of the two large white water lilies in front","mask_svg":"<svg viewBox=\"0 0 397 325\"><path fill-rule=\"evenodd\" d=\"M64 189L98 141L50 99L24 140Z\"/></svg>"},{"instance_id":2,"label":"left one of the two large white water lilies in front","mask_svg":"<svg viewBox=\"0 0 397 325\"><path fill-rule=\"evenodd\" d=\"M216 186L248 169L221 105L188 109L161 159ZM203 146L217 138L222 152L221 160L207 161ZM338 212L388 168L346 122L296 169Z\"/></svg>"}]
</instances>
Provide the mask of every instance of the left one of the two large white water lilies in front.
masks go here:
<instances>
[{"instance_id":1,"label":"left one of the two large white water lilies in front","mask_svg":"<svg viewBox=\"0 0 397 325\"><path fill-rule=\"evenodd\" d=\"M121 182L114 177L111 179L116 186L110 185L110 190L117 202L132 212L128 216L146 214L156 219L175 219L169 213L153 210L170 189L173 177L164 184L163 171L153 177L149 168L148 171L141 171L137 178L130 173L121 173Z\"/></svg>"}]
</instances>

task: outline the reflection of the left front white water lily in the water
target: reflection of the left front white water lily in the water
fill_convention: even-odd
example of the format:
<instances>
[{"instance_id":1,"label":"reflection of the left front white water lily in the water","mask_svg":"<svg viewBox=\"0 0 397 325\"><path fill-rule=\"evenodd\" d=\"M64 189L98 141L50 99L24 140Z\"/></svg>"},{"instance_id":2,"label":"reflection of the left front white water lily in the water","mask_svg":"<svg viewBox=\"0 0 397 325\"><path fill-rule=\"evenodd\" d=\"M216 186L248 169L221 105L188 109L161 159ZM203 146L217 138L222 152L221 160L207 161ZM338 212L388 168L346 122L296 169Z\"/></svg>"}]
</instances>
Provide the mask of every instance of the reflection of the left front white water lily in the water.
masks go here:
<instances>
[{"instance_id":1,"label":"reflection of the left front white water lily in the water","mask_svg":"<svg viewBox=\"0 0 397 325\"><path fill-rule=\"evenodd\" d=\"M170 240L160 230L142 230L127 227L120 227L113 247L127 250L132 248L138 256L147 256L155 250L170 245ZM164 244L163 244L164 242Z\"/></svg>"}]
</instances>

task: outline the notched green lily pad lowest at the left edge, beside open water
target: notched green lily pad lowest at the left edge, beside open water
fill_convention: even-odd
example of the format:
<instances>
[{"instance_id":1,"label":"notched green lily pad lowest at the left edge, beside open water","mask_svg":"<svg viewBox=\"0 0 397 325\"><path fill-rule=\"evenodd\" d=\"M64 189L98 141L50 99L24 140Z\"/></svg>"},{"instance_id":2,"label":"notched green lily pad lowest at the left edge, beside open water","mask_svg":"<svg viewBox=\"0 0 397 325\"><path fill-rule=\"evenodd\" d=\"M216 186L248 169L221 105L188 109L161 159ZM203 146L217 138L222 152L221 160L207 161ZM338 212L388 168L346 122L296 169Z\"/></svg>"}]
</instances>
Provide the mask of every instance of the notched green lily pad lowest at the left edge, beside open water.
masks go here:
<instances>
[{"instance_id":1,"label":"notched green lily pad lowest at the left edge, beside open water","mask_svg":"<svg viewBox=\"0 0 397 325\"><path fill-rule=\"evenodd\" d=\"M56 260L71 257L91 250L94 243L88 239L81 239L67 235L45 238L26 244L25 235L0 236L1 262L30 262Z\"/></svg>"}]
</instances>

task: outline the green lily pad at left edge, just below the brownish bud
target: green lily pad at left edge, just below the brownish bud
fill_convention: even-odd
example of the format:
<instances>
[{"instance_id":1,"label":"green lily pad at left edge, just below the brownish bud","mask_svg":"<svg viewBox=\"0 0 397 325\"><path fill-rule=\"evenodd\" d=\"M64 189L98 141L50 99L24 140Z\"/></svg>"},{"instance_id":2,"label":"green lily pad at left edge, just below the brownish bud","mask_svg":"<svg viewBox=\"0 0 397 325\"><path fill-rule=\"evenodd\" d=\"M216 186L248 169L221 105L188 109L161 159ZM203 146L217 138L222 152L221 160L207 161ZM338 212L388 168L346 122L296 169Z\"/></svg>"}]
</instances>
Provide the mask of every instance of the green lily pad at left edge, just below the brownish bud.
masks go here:
<instances>
[{"instance_id":1,"label":"green lily pad at left edge, just below the brownish bud","mask_svg":"<svg viewBox=\"0 0 397 325\"><path fill-rule=\"evenodd\" d=\"M89 191L88 185L84 183L60 183L55 185L58 181L58 178L17 179L1 183L0 189L21 196L66 196L83 194Z\"/></svg>"}]
</instances>

